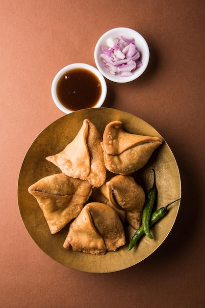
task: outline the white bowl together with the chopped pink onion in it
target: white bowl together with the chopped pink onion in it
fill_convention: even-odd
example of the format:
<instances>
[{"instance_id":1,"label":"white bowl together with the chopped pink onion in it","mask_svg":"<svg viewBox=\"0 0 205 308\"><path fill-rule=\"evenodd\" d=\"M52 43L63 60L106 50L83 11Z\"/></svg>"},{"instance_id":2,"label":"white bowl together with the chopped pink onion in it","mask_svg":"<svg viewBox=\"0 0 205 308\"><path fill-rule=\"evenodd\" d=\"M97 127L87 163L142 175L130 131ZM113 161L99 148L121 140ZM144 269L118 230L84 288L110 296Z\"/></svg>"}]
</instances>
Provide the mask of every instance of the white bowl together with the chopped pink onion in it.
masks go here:
<instances>
[{"instance_id":1,"label":"white bowl together with the chopped pink onion in it","mask_svg":"<svg viewBox=\"0 0 205 308\"><path fill-rule=\"evenodd\" d=\"M119 27L101 36L95 47L94 58L105 78L126 83L142 75L148 66L150 51L140 33Z\"/></svg>"}]
</instances>

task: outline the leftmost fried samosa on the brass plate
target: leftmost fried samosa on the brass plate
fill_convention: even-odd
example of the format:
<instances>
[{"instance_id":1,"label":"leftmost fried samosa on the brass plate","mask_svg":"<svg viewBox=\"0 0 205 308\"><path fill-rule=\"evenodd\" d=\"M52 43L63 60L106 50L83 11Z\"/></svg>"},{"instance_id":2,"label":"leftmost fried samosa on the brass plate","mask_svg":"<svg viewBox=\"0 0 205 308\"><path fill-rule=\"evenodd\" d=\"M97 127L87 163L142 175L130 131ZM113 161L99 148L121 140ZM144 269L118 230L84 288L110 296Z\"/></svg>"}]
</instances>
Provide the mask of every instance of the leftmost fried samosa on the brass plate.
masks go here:
<instances>
[{"instance_id":1,"label":"leftmost fried samosa on the brass plate","mask_svg":"<svg viewBox=\"0 0 205 308\"><path fill-rule=\"evenodd\" d=\"M92 185L59 173L39 180L28 192L36 198L51 234L55 234L77 217L92 193Z\"/></svg>"}]
</instances>

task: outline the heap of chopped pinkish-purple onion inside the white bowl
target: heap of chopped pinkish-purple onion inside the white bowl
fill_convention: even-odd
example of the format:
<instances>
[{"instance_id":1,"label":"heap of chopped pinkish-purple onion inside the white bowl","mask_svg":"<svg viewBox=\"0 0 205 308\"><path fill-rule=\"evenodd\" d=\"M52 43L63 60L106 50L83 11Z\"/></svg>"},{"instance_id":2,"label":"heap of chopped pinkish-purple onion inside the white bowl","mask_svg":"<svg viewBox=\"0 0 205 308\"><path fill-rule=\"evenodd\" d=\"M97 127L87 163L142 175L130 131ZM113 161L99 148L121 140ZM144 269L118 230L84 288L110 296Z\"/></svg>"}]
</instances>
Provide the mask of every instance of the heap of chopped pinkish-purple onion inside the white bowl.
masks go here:
<instances>
[{"instance_id":1,"label":"heap of chopped pinkish-purple onion inside the white bowl","mask_svg":"<svg viewBox=\"0 0 205 308\"><path fill-rule=\"evenodd\" d=\"M100 56L110 74L128 77L137 67L143 65L140 61L141 53L137 50L134 38L127 38L124 35L120 38L108 38L106 45L101 46Z\"/></svg>"}]
</instances>

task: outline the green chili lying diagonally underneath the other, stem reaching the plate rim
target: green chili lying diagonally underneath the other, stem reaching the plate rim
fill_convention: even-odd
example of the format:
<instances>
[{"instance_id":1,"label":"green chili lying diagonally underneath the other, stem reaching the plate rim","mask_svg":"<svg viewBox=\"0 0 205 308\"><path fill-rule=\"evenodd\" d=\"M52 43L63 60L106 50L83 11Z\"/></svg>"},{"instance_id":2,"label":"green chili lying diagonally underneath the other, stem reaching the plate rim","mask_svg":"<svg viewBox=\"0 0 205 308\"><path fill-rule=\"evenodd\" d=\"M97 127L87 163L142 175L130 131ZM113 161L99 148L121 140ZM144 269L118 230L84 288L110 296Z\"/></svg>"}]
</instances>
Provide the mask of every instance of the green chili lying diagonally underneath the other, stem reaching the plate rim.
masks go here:
<instances>
[{"instance_id":1,"label":"green chili lying diagonally underneath the other, stem reaching the plate rim","mask_svg":"<svg viewBox=\"0 0 205 308\"><path fill-rule=\"evenodd\" d=\"M167 208L173 204L174 202L177 202L179 201L181 198L167 204L166 206L158 209L157 211L155 211L151 217L151 221L150 221L150 227L152 225L154 225L155 222L157 222L161 217L163 217L166 212L167 212ZM137 241L141 238L141 236L145 233L145 230L144 230L144 227L143 225L141 225L139 227L139 229L135 232L135 234L133 235L133 237L131 238L131 241L129 243L129 246L128 246L128 250L130 250L131 248L134 247L134 245L137 243Z\"/></svg>"}]
</instances>

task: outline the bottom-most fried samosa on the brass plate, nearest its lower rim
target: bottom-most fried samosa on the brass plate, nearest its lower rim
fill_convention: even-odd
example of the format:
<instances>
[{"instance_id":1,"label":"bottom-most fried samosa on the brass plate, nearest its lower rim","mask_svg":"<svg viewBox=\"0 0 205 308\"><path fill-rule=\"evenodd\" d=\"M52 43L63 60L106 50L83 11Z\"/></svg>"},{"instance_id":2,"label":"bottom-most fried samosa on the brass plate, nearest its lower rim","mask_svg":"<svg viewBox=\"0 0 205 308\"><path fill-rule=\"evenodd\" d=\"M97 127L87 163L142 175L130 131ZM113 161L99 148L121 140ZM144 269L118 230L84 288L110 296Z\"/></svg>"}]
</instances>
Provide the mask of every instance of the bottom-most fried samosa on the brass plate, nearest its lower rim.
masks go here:
<instances>
[{"instance_id":1,"label":"bottom-most fried samosa on the brass plate, nearest its lower rim","mask_svg":"<svg viewBox=\"0 0 205 308\"><path fill-rule=\"evenodd\" d=\"M71 223L64 248L103 255L126 244L122 222L109 205L91 202Z\"/></svg>"}]
</instances>

